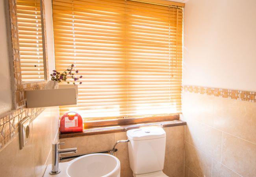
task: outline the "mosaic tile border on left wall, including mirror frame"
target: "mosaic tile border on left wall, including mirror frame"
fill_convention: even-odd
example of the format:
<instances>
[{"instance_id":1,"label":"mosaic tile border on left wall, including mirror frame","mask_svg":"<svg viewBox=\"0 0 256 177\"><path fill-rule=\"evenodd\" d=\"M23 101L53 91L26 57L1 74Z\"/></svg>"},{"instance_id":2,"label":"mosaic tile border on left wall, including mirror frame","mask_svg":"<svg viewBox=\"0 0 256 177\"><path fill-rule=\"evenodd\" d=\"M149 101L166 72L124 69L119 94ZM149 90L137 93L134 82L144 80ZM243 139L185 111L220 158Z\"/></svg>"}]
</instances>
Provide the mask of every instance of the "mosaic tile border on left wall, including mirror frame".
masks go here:
<instances>
[{"instance_id":1,"label":"mosaic tile border on left wall, including mirror frame","mask_svg":"<svg viewBox=\"0 0 256 177\"><path fill-rule=\"evenodd\" d=\"M25 90L38 90L43 89L46 81L22 83L21 70L20 70L20 54L19 54L19 39L18 39L18 24L17 24L17 0L9 0L10 11L10 25L11 25L11 42L13 48L13 74L15 79L15 107L16 110L7 112L4 116L0 117L0 149L3 148L7 142L19 133L19 122L25 117L30 117L32 122L37 115L39 115L45 108L26 108L26 95ZM43 30L44 36L44 55L45 55L45 77L48 78L48 57L47 57L47 43L46 43L46 28L45 28L45 6L42 0L43 11Z\"/></svg>"}]
</instances>

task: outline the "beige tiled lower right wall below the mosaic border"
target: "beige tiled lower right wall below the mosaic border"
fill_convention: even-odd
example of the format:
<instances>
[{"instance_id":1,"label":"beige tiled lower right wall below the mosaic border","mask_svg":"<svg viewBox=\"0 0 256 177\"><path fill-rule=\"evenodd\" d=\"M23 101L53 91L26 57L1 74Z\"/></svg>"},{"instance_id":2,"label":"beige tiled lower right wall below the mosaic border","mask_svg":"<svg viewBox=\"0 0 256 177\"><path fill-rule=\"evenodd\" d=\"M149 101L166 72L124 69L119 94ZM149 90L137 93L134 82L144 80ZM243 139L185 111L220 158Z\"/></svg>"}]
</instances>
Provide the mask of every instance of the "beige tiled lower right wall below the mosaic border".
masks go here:
<instances>
[{"instance_id":1,"label":"beige tiled lower right wall below the mosaic border","mask_svg":"<svg viewBox=\"0 0 256 177\"><path fill-rule=\"evenodd\" d=\"M185 177L255 177L256 103L182 92ZM214 90L214 89L213 89ZM250 93L249 93L250 94Z\"/></svg>"}]
</instances>

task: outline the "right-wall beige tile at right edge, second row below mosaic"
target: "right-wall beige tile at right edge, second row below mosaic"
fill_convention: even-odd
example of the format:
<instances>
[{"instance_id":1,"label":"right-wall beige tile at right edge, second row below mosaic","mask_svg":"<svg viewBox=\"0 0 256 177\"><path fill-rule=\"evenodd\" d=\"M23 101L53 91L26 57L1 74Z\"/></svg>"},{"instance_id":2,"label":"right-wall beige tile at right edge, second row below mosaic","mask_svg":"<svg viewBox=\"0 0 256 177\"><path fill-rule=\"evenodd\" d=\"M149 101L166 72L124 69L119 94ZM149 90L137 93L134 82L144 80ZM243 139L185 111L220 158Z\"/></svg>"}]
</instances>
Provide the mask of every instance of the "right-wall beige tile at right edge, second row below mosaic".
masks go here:
<instances>
[{"instance_id":1,"label":"right-wall beige tile at right edge, second row below mosaic","mask_svg":"<svg viewBox=\"0 0 256 177\"><path fill-rule=\"evenodd\" d=\"M256 144L223 133L222 163L242 176L255 177Z\"/></svg>"}]
</instances>

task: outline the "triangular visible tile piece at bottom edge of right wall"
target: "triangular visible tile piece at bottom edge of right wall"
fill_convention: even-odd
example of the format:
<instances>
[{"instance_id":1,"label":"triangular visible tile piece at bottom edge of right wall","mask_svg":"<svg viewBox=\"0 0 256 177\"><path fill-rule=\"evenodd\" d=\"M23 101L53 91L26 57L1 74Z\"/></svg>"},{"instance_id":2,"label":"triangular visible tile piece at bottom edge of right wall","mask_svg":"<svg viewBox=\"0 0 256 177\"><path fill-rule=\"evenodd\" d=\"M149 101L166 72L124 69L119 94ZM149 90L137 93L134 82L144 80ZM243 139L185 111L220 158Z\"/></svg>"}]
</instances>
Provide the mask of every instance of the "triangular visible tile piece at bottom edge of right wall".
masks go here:
<instances>
[{"instance_id":1,"label":"triangular visible tile piece at bottom edge of right wall","mask_svg":"<svg viewBox=\"0 0 256 177\"><path fill-rule=\"evenodd\" d=\"M212 177L240 177L240 175L213 159Z\"/></svg>"}]
</instances>

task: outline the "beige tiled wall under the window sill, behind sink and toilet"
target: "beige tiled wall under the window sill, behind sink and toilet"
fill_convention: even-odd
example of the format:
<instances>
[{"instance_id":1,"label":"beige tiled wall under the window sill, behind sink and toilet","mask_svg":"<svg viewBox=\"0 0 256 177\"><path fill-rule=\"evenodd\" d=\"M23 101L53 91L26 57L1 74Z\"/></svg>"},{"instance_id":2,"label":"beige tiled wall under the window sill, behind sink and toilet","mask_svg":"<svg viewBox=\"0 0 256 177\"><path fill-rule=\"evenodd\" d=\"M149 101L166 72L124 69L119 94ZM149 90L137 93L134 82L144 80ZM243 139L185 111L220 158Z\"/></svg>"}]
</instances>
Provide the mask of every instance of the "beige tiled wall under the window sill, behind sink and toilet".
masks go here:
<instances>
[{"instance_id":1,"label":"beige tiled wall under the window sill, behind sink and toilet","mask_svg":"<svg viewBox=\"0 0 256 177\"><path fill-rule=\"evenodd\" d=\"M164 128L167 139L163 172L169 177L184 176L184 129L185 126ZM118 140L127 140L126 132L60 139L65 142L65 145L61 145L62 148L77 147L78 154L110 150ZM118 151L115 156L121 162L121 177L132 177L128 144L119 143L116 148Z\"/></svg>"}]
</instances>

